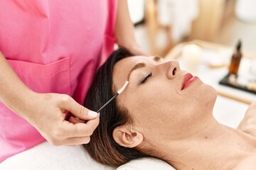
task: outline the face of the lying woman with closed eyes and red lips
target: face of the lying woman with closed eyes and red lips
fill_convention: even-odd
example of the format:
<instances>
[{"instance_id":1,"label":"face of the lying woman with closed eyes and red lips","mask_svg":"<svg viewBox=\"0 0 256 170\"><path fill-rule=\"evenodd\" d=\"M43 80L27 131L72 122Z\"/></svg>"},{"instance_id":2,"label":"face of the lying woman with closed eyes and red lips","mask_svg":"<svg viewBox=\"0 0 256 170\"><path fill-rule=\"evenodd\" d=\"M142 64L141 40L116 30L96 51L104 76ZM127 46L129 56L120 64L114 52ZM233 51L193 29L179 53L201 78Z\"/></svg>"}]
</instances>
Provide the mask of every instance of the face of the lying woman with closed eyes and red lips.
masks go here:
<instances>
[{"instance_id":1,"label":"face of the lying woman with closed eyes and red lips","mask_svg":"<svg viewBox=\"0 0 256 170\"><path fill-rule=\"evenodd\" d=\"M114 92L126 80L129 84L117 103L127 108L134 128L148 141L183 137L212 116L215 90L181 70L176 60L127 57L114 65Z\"/></svg>"}]
</instances>

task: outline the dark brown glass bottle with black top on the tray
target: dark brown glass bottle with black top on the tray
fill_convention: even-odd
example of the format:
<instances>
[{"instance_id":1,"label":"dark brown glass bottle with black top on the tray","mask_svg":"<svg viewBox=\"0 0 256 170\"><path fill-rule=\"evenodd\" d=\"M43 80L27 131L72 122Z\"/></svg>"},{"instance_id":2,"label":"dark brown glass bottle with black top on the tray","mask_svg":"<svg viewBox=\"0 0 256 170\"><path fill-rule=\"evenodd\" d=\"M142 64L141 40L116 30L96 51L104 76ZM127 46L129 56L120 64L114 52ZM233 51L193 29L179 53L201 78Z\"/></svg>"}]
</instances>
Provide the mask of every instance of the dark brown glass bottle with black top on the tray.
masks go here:
<instances>
[{"instance_id":1,"label":"dark brown glass bottle with black top on the tray","mask_svg":"<svg viewBox=\"0 0 256 170\"><path fill-rule=\"evenodd\" d=\"M229 74L235 74L235 76L238 76L239 64L242 58L241 46L242 46L242 42L239 40L238 45L235 48L235 52L231 57Z\"/></svg>"}]
</instances>

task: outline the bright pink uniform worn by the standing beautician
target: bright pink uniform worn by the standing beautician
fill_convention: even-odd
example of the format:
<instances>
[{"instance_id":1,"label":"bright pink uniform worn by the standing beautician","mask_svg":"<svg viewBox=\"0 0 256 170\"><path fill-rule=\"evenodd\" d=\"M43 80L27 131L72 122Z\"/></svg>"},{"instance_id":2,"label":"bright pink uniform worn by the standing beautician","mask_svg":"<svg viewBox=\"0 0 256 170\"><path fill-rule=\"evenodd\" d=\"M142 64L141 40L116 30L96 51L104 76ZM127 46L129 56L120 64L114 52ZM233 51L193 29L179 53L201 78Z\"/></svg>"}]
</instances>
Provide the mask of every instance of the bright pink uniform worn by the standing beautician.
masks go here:
<instances>
[{"instance_id":1,"label":"bright pink uniform worn by the standing beautician","mask_svg":"<svg viewBox=\"0 0 256 170\"><path fill-rule=\"evenodd\" d=\"M113 50L117 1L8 0L0 6L0 51L18 77L33 91L82 103ZM0 162L44 140L0 102Z\"/></svg>"}]
</instances>

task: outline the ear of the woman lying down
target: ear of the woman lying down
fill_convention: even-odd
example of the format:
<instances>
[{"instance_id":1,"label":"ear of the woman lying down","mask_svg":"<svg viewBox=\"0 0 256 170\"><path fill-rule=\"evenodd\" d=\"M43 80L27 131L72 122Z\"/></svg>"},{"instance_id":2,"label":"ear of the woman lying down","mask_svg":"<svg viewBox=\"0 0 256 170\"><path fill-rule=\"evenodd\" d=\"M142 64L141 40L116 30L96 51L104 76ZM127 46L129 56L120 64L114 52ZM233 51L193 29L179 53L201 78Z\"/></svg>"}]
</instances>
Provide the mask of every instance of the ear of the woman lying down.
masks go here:
<instances>
[{"instance_id":1,"label":"ear of the woman lying down","mask_svg":"<svg viewBox=\"0 0 256 170\"><path fill-rule=\"evenodd\" d=\"M137 147L143 141L143 135L137 130L132 130L130 125L114 128L112 133L114 141L122 147Z\"/></svg>"}]
</instances>

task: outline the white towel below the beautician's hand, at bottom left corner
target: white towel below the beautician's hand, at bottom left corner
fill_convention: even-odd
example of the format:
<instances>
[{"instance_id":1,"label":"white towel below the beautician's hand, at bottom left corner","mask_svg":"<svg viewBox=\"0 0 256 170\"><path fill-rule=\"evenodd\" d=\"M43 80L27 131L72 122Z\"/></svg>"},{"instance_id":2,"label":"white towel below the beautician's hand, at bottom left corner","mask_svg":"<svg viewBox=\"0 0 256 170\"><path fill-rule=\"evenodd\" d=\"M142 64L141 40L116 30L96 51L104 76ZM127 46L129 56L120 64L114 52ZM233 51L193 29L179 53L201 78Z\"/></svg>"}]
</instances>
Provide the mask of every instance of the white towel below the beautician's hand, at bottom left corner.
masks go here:
<instances>
[{"instance_id":1,"label":"white towel below the beautician's hand, at bottom left corner","mask_svg":"<svg viewBox=\"0 0 256 170\"><path fill-rule=\"evenodd\" d=\"M1 152L1 151L0 151ZM81 145L55 147L43 142L6 159L1 170L114 170L92 160Z\"/></svg>"}]
</instances>

